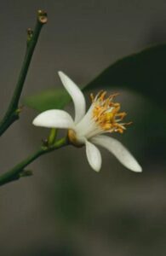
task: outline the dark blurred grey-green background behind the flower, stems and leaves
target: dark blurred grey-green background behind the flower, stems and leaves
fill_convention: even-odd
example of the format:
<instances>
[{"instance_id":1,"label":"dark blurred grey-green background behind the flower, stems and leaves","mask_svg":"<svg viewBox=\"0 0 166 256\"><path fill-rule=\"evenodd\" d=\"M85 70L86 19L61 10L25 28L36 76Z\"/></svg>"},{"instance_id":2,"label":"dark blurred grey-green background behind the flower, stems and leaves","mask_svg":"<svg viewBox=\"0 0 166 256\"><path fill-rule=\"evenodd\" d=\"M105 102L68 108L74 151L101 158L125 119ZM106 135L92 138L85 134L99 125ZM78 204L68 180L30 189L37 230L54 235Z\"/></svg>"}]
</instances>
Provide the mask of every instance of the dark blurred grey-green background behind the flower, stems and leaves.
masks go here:
<instances>
[{"instance_id":1,"label":"dark blurred grey-green background behind the flower, stems and leaves","mask_svg":"<svg viewBox=\"0 0 166 256\"><path fill-rule=\"evenodd\" d=\"M3 1L1 116L37 9L48 12L49 22L22 96L61 86L58 70L86 84L118 58L166 39L165 0ZM143 172L130 172L105 150L100 173L89 167L84 148L44 155L29 166L33 177L0 189L2 256L166 255L165 113L141 95L119 91L134 125L116 137L135 154ZM68 109L72 113L72 104ZM31 154L48 135L47 129L31 125L36 115L24 108L20 121L1 137L1 172Z\"/></svg>"}]
</instances>

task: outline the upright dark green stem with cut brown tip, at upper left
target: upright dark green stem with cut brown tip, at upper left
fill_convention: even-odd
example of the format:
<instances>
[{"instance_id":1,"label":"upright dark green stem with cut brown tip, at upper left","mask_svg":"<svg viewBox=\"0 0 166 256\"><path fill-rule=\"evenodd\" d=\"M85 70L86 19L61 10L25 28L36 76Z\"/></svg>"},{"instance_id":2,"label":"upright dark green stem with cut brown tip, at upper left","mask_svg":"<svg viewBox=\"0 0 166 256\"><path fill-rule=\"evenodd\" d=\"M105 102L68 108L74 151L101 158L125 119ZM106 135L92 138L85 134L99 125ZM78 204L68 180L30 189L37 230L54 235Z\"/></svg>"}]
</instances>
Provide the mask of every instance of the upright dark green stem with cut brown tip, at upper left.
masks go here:
<instances>
[{"instance_id":1,"label":"upright dark green stem with cut brown tip, at upper left","mask_svg":"<svg viewBox=\"0 0 166 256\"><path fill-rule=\"evenodd\" d=\"M4 114L3 119L0 122L0 136L6 131L10 125L14 123L16 119L19 119L19 101L20 101L20 94L22 92L24 82L26 80L26 74L28 72L28 68L31 63L31 57L33 55L35 46L37 44L37 39L43 27L43 24L47 22L47 15L43 11L38 11L37 14L37 24L35 26L35 30L31 33L31 37L28 38L27 41L27 48L26 48L26 55L24 61L22 63L22 67L20 70L20 76L18 82L14 89L14 94L12 99L9 103L9 108L7 109L6 113Z\"/></svg>"}]
</instances>

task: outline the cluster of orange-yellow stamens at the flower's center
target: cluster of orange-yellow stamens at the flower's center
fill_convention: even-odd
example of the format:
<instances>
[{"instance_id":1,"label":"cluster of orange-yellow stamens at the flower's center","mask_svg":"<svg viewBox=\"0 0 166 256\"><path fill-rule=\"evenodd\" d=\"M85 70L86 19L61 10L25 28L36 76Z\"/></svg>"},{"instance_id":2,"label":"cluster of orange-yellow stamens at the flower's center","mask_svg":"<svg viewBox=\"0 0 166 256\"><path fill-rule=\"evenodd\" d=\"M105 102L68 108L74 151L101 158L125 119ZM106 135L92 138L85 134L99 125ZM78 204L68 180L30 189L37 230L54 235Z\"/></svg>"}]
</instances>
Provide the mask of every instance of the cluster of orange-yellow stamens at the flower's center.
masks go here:
<instances>
[{"instance_id":1,"label":"cluster of orange-yellow stamens at the flower's center","mask_svg":"<svg viewBox=\"0 0 166 256\"><path fill-rule=\"evenodd\" d=\"M92 103L94 104L92 116L95 123L100 126L102 131L123 133L126 129L125 125L131 124L131 122L121 123L127 113L120 112L120 103L112 102L117 95L118 94L112 94L106 98L106 91L103 90L95 97L93 94L90 95Z\"/></svg>"}]
</instances>

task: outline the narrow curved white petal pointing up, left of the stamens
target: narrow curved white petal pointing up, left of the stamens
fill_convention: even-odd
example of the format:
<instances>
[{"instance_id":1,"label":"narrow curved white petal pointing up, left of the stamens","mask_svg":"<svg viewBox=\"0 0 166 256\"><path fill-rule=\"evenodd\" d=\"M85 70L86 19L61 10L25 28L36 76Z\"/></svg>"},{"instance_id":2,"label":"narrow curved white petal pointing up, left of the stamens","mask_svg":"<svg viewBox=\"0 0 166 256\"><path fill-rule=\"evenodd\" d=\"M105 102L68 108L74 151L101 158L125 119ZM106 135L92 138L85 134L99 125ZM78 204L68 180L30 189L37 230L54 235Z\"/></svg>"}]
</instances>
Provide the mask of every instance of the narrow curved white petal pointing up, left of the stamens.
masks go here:
<instances>
[{"instance_id":1,"label":"narrow curved white petal pointing up, left of the stamens","mask_svg":"<svg viewBox=\"0 0 166 256\"><path fill-rule=\"evenodd\" d=\"M70 96L72 96L72 101L75 107L75 122L77 123L83 118L86 111L83 92L77 87L77 84L75 84L72 79L66 76L65 73L59 71L59 76L62 84L65 86Z\"/></svg>"}]
</instances>

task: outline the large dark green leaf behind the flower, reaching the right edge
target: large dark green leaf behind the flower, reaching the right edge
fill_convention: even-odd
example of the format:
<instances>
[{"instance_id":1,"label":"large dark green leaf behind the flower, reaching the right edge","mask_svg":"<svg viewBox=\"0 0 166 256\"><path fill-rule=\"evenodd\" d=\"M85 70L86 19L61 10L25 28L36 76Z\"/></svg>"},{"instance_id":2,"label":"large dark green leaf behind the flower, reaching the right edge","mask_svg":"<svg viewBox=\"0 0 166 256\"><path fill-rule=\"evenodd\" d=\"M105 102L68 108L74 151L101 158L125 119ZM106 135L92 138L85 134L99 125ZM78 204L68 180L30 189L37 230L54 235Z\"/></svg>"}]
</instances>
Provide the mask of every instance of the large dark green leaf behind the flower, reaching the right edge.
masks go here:
<instances>
[{"instance_id":1,"label":"large dark green leaf behind the flower, reaching the right edge","mask_svg":"<svg viewBox=\"0 0 166 256\"><path fill-rule=\"evenodd\" d=\"M166 44L144 49L107 67L85 90L125 88L166 107Z\"/></svg>"}]
</instances>

